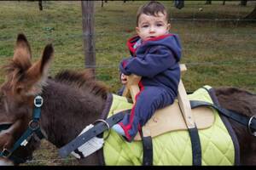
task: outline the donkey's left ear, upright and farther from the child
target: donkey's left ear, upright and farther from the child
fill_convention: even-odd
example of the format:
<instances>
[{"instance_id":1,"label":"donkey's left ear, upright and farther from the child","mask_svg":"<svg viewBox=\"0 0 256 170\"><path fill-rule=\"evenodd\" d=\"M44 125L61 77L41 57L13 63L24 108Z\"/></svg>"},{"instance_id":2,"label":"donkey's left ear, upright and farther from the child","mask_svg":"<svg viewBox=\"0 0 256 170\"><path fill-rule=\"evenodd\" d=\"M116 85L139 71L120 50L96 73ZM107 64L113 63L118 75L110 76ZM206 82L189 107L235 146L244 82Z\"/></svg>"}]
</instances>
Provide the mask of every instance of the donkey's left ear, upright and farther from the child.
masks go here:
<instances>
[{"instance_id":1,"label":"donkey's left ear, upright and farther from the child","mask_svg":"<svg viewBox=\"0 0 256 170\"><path fill-rule=\"evenodd\" d=\"M32 65L31 58L32 53L29 42L26 40L26 36L20 33L17 37L13 60L20 65L21 70L26 71Z\"/></svg>"}]
</instances>

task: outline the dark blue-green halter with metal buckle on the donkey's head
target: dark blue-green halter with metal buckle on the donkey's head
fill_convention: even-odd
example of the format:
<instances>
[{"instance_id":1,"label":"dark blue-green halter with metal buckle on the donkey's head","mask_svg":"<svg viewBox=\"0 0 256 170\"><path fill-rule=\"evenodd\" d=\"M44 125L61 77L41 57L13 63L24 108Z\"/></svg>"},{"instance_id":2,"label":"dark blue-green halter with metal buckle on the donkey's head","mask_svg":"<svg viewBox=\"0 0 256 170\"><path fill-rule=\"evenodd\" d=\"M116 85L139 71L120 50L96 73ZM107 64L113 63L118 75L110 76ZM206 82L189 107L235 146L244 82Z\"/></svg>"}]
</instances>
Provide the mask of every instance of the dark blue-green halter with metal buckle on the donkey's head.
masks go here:
<instances>
[{"instance_id":1,"label":"dark blue-green halter with metal buckle on the donkey's head","mask_svg":"<svg viewBox=\"0 0 256 170\"><path fill-rule=\"evenodd\" d=\"M0 152L0 157L8 158L9 160L14 161L15 163L23 163L26 160L21 159L17 156L13 156L13 152L17 150L20 146L26 146L28 140L32 137L33 133L36 133L39 139L44 139L44 134L41 132L39 125L43 101L44 99L40 95L35 97L32 120L28 123L28 127L25 133L21 135L20 139L18 139L15 142L14 146L10 150L3 148L3 150ZM2 130L8 129L9 127L11 127L11 124L3 124L2 126L0 126L0 132Z\"/></svg>"}]
</instances>

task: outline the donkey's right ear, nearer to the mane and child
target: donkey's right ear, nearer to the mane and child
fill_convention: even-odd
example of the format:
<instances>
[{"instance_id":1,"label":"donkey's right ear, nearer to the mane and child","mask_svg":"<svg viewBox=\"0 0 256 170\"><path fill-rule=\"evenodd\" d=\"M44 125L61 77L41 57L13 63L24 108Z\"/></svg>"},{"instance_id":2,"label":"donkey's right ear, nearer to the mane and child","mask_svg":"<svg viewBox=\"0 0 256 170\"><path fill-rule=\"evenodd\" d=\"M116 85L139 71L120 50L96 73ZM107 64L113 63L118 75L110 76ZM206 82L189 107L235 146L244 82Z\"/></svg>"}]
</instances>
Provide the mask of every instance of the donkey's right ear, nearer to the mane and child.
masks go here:
<instances>
[{"instance_id":1,"label":"donkey's right ear, nearer to the mane and child","mask_svg":"<svg viewBox=\"0 0 256 170\"><path fill-rule=\"evenodd\" d=\"M48 77L49 64L53 58L53 54L54 48L52 44L48 44L44 48L42 58L26 71L25 77L22 83L20 83L20 87L26 87L26 94L34 95L41 93L42 87Z\"/></svg>"}]
</instances>

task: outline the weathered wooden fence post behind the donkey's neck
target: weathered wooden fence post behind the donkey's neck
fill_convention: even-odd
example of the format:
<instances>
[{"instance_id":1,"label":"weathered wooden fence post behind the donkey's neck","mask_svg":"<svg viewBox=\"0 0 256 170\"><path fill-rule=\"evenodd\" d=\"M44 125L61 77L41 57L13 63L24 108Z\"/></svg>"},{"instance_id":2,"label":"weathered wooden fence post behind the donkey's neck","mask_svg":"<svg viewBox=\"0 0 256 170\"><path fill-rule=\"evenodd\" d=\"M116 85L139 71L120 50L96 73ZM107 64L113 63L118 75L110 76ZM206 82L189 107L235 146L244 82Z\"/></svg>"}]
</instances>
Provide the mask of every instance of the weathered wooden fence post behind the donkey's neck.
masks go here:
<instances>
[{"instance_id":1,"label":"weathered wooden fence post behind the donkey's neck","mask_svg":"<svg viewBox=\"0 0 256 170\"><path fill-rule=\"evenodd\" d=\"M95 74L96 54L94 40L94 1L81 1L85 68L92 68Z\"/></svg>"}]
</instances>

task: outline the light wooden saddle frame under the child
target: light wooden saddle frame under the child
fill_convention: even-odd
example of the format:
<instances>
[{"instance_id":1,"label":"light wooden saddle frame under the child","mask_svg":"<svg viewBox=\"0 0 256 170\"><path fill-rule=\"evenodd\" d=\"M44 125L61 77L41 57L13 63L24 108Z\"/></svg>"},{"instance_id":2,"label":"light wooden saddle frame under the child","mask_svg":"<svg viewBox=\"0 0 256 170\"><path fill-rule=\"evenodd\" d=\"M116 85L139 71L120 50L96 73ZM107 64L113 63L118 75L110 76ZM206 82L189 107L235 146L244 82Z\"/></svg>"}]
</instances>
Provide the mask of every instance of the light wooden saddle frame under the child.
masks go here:
<instances>
[{"instance_id":1,"label":"light wooden saddle frame under the child","mask_svg":"<svg viewBox=\"0 0 256 170\"><path fill-rule=\"evenodd\" d=\"M187 71L186 65L180 65L181 71ZM131 97L133 104L135 103L135 96L139 93L138 82L141 77L137 75L130 75L127 77L127 84L123 92L123 96ZM167 108L168 107L168 108ZM170 112L172 114L170 114ZM173 113L175 112L175 114ZM177 113L178 112L178 113ZM184 88L182 80L178 84L177 99L171 106L158 110L150 120L143 126L143 136L157 136L161 133L166 133L174 130L183 130L195 128L203 129L211 127L214 122L214 116L209 108L195 108L191 110L189 98ZM164 118L162 117L164 116ZM140 140L141 137L137 133L135 140Z\"/></svg>"}]
</instances>

